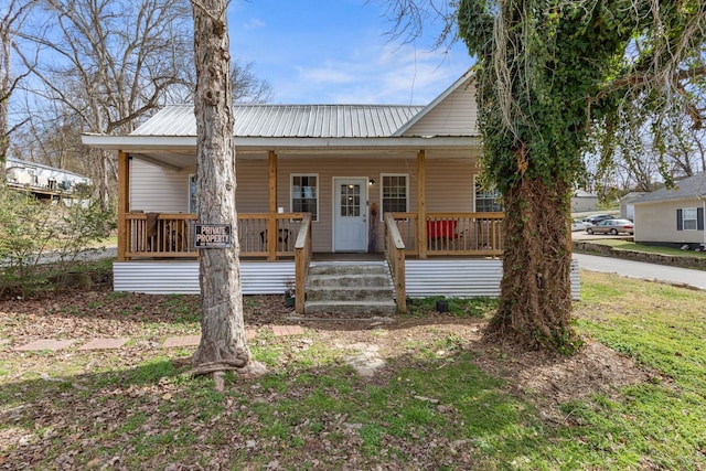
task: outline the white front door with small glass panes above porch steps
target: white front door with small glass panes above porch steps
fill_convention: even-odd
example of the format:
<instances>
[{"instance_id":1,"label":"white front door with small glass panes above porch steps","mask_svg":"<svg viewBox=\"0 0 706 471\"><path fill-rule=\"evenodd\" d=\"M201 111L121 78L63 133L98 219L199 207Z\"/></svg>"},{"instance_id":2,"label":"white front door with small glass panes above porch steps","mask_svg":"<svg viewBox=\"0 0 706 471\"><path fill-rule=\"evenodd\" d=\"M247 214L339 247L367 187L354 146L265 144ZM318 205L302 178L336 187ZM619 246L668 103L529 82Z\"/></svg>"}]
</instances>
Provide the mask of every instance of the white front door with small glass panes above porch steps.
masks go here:
<instances>
[{"instance_id":1,"label":"white front door with small glass panes above porch steps","mask_svg":"<svg viewBox=\"0 0 706 471\"><path fill-rule=\"evenodd\" d=\"M367 179L333 179L333 250L367 250Z\"/></svg>"}]
</instances>

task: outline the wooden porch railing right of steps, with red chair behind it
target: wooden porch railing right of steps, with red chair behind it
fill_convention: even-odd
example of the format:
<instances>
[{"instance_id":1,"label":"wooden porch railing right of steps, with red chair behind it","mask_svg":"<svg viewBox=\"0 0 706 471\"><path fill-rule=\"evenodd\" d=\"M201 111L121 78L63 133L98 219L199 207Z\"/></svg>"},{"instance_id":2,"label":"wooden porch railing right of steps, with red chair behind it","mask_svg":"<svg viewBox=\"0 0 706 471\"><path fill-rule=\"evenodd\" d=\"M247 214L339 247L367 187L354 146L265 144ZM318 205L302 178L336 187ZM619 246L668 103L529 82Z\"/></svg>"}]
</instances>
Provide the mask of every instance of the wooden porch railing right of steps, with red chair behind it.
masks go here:
<instances>
[{"instance_id":1,"label":"wooden porch railing right of steps, with red chair behind it","mask_svg":"<svg viewBox=\"0 0 706 471\"><path fill-rule=\"evenodd\" d=\"M407 255L500 257L503 213L427 213L425 233L417 213L392 213Z\"/></svg>"}]
</instances>

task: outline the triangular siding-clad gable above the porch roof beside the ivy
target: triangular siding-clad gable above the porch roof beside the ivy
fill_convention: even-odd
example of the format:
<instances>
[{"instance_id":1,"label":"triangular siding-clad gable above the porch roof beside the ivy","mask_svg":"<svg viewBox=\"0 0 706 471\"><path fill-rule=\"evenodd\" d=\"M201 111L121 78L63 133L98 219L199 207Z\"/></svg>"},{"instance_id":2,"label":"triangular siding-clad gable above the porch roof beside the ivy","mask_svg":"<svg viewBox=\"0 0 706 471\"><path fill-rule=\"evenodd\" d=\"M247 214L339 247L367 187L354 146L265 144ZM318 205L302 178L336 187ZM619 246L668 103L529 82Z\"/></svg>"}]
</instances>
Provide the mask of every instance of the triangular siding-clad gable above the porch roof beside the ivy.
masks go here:
<instances>
[{"instance_id":1,"label":"triangular siding-clad gable above the porch roof beside the ivy","mask_svg":"<svg viewBox=\"0 0 706 471\"><path fill-rule=\"evenodd\" d=\"M478 106L473 83L453 90L415 122L405 136L478 136Z\"/></svg>"}]
</instances>

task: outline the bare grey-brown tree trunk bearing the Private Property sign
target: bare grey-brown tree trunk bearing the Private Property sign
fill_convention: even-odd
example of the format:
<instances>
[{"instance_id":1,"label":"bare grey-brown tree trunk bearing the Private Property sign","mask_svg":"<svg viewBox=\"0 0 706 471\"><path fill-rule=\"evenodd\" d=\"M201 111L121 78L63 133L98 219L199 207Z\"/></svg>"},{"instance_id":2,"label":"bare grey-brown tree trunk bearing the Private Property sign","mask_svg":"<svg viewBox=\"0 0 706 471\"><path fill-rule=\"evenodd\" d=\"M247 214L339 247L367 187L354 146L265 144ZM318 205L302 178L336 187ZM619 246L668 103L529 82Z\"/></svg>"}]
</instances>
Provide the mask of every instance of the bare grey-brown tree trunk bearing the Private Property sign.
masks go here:
<instances>
[{"instance_id":1,"label":"bare grey-brown tree trunk bearing the Private Property sign","mask_svg":"<svg viewBox=\"0 0 706 471\"><path fill-rule=\"evenodd\" d=\"M225 0L193 2L196 62L197 218L231 224L232 246L200 253L201 344L192 358L196 374L236 370L260 374L247 347L243 320L239 246L235 211L235 150L231 57Z\"/></svg>"}]
</instances>

